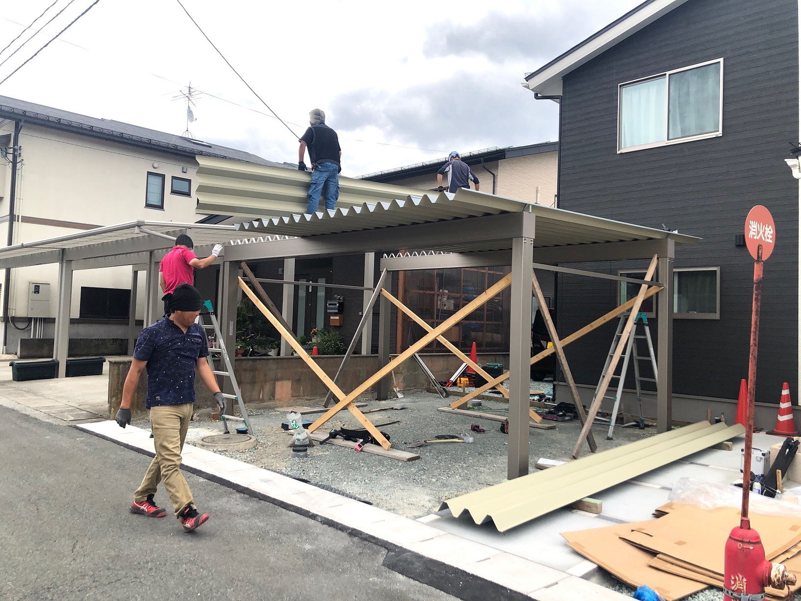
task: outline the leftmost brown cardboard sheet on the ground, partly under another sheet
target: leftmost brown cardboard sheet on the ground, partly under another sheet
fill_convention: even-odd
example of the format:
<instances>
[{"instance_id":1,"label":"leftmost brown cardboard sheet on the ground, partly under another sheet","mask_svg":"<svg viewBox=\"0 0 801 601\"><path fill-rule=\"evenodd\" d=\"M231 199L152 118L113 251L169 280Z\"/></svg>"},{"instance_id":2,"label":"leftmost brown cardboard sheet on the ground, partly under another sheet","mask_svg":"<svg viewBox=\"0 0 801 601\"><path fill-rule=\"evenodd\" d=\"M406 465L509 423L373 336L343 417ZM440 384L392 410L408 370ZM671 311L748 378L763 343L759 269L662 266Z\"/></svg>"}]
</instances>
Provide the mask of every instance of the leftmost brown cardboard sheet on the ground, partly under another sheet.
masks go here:
<instances>
[{"instance_id":1,"label":"leftmost brown cardboard sheet on the ground, partly under another sheet","mask_svg":"<svg viewBox=\"0 0 801 601\"><path fill-rule=\"evenodd\" d=\"M627 534L632 527L649 522L616 524L606 528L592 528L575 532L562 532L568 545L591 562L630 584L632 587L647 585L662 595L666 601L682 599L686 595L702 591L706 584L696 580L669 574L648 565L653 555L642 551L620 536Z\"/></svg>"}]
</instances>

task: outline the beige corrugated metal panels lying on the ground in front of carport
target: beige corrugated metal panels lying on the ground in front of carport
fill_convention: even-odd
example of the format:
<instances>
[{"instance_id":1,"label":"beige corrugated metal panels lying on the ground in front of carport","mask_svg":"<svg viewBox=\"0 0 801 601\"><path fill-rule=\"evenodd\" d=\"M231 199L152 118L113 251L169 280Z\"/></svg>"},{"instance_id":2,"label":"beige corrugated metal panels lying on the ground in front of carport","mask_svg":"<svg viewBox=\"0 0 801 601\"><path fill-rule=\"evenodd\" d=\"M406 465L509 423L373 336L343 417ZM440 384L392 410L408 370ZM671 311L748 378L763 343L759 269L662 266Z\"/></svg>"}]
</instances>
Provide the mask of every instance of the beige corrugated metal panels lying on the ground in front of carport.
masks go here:
<instances>
[{"instance_id":1,"label":"beige corrugated metal panels lying on the ground in front of carport","mask_svg":"<svg viewBox=\"0 0 801 601\"><path fill-rule=\"evenodd\" d=\"M492 520L504 532L581 498L626 482L745 433L743 426L698 422L618 446L536 474L445 501L454 517L469 511L477 524Z\"/></svg>"}]
</instances>

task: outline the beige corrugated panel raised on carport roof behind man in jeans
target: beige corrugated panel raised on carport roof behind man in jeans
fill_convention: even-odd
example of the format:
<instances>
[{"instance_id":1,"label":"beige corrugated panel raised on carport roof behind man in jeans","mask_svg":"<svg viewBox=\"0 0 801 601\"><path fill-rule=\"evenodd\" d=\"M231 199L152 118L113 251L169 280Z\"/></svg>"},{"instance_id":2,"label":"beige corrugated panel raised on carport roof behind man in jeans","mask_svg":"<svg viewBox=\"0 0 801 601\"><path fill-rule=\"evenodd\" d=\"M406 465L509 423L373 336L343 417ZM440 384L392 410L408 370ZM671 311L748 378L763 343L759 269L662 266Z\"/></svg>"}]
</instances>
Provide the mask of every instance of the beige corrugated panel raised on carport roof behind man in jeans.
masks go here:
<instances>
[{"instance_id":1,"label":"beige corrugated panel raised on carport roof behind man in jeans","mask_svg":"<svg viewBox=\"0 0 801 601\"><path fill-rule=\"evenodd\" d=\"M303 213L307 206L309 171L198 156L198 212L272 217ZM337 206L421 196L425 190L378 184L340 176Z\"/></svg>"}]
</instances>

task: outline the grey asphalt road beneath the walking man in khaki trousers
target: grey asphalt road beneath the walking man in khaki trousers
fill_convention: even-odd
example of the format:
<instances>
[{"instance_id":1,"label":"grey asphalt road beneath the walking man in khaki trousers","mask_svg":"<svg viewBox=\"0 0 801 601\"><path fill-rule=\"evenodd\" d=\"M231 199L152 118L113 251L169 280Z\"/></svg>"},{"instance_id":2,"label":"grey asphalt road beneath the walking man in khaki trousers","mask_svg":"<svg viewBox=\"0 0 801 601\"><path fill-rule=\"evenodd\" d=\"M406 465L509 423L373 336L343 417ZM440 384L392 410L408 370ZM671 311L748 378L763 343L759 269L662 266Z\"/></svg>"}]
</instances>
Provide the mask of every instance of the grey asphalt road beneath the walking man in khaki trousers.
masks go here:
<instances>
[{"instance_id":1,"label":"grey asphalt road beneath the walking man in khaki trousers","mask_svg":"<svg viewBox=\"0 0 801 601\"><path fill-rule=\"evenodd\" d=\"M382 567L381 547L186 472L199 530L131 514L150 458L2 406L0 458L0 599L455 599Z\"/></svg>"}]
</instances>

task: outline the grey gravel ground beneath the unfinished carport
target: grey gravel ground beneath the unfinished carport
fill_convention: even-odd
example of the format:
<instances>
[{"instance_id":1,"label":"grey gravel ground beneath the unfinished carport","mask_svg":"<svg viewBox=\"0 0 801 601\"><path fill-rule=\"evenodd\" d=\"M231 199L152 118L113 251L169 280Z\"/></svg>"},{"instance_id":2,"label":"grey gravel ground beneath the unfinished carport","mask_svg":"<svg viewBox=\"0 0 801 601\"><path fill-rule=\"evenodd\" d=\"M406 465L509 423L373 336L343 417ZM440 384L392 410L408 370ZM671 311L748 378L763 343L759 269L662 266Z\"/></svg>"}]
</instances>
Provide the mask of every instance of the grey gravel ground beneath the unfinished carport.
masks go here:
<instances>
[{"instance_id":1,"label":"grey gravel ground beneath the unfinished carport","mask_svg":"<svg viewBox=\"0 0 801 601\"><path fill-rule=\"evenodd\" d=\"M256 448L221 454L305 478L316 484L333 486L396 514L420 518L437 511L446 498L497 484L506 477L507 435L501 434L500 423L437 411L437 407L448 405L451 400L433 393L414 393L407 394L403 399L370 403L368 408L371 409L396 404L408 407L400 411L369 413L368 417L376 426L400 420L400 423L380 427L380 430L389 435L394 448L421 455L419 460L413 462L401 462L328 445L312 447L308 458L292 458L292 437L280 429L280 423L287 419L287 413L273 409L250 412L259 442ZM319 404L319 401L305 404L315 403ZM508 413L509 407L502 402L482 401L479 410L502 414ZM306 418L314 421L318 415ZM578 420L544 422L556 424L557 427L555 430L529 430L531 471L535 470L534 464L538 458L568 457L581 430ZM475 440L472 444L442 443L414 450L407 449L404 444L434 438L437 434L466 433L473 423L480 424L486 432L472 433ZM135 425L148 427L147 420L139 420ZM340 426L356 428L359 424L350 413L342 411L324 426L324 431ZM220 422L193 422L187 442L192 444L197 438L221 431ZM602 424L595 426L594 432L601 450L655 434L654 429L618 429L615 440L607 441Z\"/></svg>"}]
</instances>

